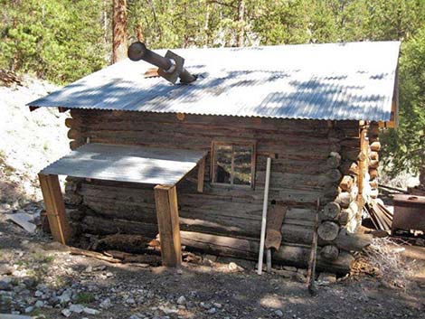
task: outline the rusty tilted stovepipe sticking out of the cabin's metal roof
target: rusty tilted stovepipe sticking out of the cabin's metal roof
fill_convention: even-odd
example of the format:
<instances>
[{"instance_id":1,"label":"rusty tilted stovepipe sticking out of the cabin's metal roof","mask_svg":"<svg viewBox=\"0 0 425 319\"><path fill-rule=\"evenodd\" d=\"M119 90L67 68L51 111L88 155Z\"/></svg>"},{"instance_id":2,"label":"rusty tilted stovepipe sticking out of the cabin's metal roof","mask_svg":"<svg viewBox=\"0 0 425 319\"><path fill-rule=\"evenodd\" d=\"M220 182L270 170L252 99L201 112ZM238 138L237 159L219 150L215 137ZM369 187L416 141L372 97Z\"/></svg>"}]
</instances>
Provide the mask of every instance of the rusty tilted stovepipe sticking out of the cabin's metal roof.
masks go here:
<instances>
[{"instance_id":1,"label":"rusty tilted stovepipe sticking out of the cabin's metal roof","mask_svg":"<svg viewBox=\"0 0 425 319\"><path fill-rule=\"evenodd\" d=\"M146 61L158 67L158 74L165 80L175 84L178 78L183 84L196 80L196 76L184 69L184 58L167 51L165 57L146 48L145 43L134 42L128 47L128 58L131 61Z\"/></svg>"}]
</instances>

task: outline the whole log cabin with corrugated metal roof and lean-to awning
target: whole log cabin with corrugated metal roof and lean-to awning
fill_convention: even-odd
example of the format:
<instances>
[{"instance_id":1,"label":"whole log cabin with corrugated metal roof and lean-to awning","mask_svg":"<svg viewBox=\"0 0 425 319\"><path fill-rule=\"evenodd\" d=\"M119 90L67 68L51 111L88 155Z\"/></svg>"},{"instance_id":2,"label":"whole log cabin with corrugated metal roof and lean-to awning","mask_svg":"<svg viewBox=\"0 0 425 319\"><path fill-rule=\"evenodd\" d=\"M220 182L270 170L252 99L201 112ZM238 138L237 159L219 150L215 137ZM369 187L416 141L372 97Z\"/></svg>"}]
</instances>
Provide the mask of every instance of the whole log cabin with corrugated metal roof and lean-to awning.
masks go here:
<instances>
[{"instance_id":1,"label":"whole log cabin with corrugated metal roof and lean-to awning","mask_svg":"<svg viewBox=\"0 0 425 319\"><path fill-rule=\"evenodd\" d=\"M358 229L378 196L379 131L397 126L399 50L179 49L191 83L127 59L34 100L32 111L71 112L71 154L40 174L53 238L159 228L167 266L181 262L181 245L255 260L266 206L284 215L268 223L280 237L273 263L307 267L316 231L317 267L347 273L370 242ZM68 217L58 174L69 176L64 199L77 208Z\"/></svg>"}]
</instances>

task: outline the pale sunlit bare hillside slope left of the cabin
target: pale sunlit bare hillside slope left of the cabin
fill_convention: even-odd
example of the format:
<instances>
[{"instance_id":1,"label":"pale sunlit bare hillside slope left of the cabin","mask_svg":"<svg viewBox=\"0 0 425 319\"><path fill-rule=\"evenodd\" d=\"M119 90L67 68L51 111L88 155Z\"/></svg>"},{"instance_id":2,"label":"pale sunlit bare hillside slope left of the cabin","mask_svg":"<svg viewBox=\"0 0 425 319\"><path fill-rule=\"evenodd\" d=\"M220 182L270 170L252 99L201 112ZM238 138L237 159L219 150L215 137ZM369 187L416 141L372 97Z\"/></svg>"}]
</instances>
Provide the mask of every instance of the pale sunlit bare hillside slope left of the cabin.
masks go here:
<instances>
[{"instance_id":1,"label":"pale sunlit bare hillside slope left of the cabin","mask_svg":"<svg viewBox=\"0 0 425 319\"><path fill-rule=\"evenodd\" d=\"M25 104L57 89L25 76L23 86L0 87L0 208L17 209L40 200L37 173L69 151L67 113L56 108L30 112Z\"/></svg>"}]
</instances>

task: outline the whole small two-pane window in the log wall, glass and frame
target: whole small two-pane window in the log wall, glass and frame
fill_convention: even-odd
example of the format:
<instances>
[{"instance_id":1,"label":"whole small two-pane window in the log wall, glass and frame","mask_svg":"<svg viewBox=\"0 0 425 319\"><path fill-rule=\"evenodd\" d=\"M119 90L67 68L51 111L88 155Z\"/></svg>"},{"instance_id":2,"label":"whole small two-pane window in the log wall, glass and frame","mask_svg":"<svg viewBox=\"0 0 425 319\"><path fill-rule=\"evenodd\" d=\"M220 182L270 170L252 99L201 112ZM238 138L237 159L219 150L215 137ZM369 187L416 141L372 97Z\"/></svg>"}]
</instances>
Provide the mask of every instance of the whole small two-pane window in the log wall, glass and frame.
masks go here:
<instances>
[{"instance_id":1,"label":"whole small two-pane window in the log wall, glass and frame","mask_svg":"<svg viewBox=\"0 0 425 319\"><path fill-rule=\"evenodd\" d=\"M213 142L213 183L253 186L254 143Z\"/></svg>"}]
</instances>

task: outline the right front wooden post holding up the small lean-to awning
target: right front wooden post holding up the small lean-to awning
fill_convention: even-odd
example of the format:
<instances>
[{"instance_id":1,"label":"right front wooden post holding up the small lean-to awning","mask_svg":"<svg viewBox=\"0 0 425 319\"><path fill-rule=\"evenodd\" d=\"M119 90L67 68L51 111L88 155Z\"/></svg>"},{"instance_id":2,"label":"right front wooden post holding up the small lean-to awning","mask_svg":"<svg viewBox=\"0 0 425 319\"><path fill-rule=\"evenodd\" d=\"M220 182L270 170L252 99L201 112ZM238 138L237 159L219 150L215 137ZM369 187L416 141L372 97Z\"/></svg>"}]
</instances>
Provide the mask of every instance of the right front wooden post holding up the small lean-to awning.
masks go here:
<instances>
[{"instance_id":1,"label":"right front wooden post holding up the small lean-to awning","mask_svg":"<svg viewBox=\"0 0 425 319\"><path fill-rule=\"evenodd\" d=\"M182 247L175 186L156 185L155 202L163 266L178 267L182 264Z\"/></svg>"}]
</instances>

